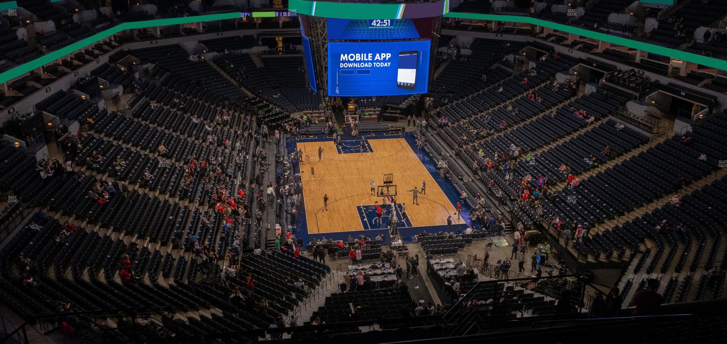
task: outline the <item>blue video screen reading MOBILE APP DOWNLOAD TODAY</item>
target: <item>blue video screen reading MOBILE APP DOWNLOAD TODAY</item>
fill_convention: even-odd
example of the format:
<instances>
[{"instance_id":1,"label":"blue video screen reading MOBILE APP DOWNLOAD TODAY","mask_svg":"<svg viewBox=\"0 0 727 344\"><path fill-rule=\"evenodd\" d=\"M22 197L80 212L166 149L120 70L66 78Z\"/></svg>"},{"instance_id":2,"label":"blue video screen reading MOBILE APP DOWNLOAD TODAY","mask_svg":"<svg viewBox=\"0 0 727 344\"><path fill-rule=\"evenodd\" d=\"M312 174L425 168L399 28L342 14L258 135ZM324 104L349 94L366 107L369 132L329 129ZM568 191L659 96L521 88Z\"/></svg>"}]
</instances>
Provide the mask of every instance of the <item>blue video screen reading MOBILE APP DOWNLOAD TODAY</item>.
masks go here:
<instances>
[{"instance_id":1,"label":"blue video screen reading MOBILE APP DOWNLOAD TODAY","mask_svg":"<svg viewBox=\"0 0 727 344\"><path fill-rule=\"evenodd\" d=\"M430 45L431 41L329 42L328 95L426 93Z\"/></svg>"}]
</instances>

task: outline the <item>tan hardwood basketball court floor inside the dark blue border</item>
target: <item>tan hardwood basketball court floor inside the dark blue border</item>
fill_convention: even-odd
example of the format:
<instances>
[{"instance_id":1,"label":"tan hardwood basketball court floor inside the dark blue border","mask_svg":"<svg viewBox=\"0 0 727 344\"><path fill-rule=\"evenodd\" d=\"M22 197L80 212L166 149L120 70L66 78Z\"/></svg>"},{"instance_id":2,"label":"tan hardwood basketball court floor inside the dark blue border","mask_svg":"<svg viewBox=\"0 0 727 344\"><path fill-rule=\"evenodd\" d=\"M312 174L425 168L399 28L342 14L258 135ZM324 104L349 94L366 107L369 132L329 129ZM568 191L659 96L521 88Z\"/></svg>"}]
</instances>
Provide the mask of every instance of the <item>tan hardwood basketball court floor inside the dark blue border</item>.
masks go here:
<instances>
[{"instance_id":1,"label":"tan hardwood basketball court floor inside the dark blue border","mask_svg":"<svg viewBox=\"0 0 727 344\"><path fill-rule=\"evenodd\" d=\"M373 152L359 155L337 153L332 141L297 143L303 156L310 156L310 162L301 166L308 233L363 230L356 206L382 203L382 199L371 196L369 183L374 180L377 186L382 185L387 173L394 174L396 202L406 204L414 227L446 225L449 215L457 223L454 206L403 138L369 140L369 144ZM324 149L321 162L318 147ZM316 178L310 176L311 166ZM411 204L409 190L421 188L422 181L427 182L427 196L419 193L419 205ZM323 211L324 193L329 196L328 211Z\"/></svg>"}]
</instances>

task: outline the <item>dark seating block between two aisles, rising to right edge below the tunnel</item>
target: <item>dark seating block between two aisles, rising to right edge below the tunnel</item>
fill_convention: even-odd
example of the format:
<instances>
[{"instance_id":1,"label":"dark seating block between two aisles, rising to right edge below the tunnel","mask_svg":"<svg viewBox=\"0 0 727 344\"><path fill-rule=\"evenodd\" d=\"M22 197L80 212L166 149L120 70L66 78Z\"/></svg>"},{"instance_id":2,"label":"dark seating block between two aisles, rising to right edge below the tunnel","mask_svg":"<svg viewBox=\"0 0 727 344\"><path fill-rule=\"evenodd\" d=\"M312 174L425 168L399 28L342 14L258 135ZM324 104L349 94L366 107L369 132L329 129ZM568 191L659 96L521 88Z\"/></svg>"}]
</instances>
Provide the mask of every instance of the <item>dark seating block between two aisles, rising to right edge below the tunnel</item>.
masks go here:
<instances>
[{"instance_id":1,"label":"dark seating block between two aisles, rising to right edge below the tunnel","mask_svg":"<svg viewBox=\"0 0 727 344\"><path fill-rule=\"evenodd\" d=\"M701 119L694 132L675 135L598 172L581 182L579 188L558 191L542 203L553 218L559 217L564 223L598 223L623 214L717 169L717 162L727 159L726 130L727 120L722 116ZM706 161L698 160L702 153L706 154ZM683 182L678 178L683 178Z\"/></svg>"}]
</instances>

